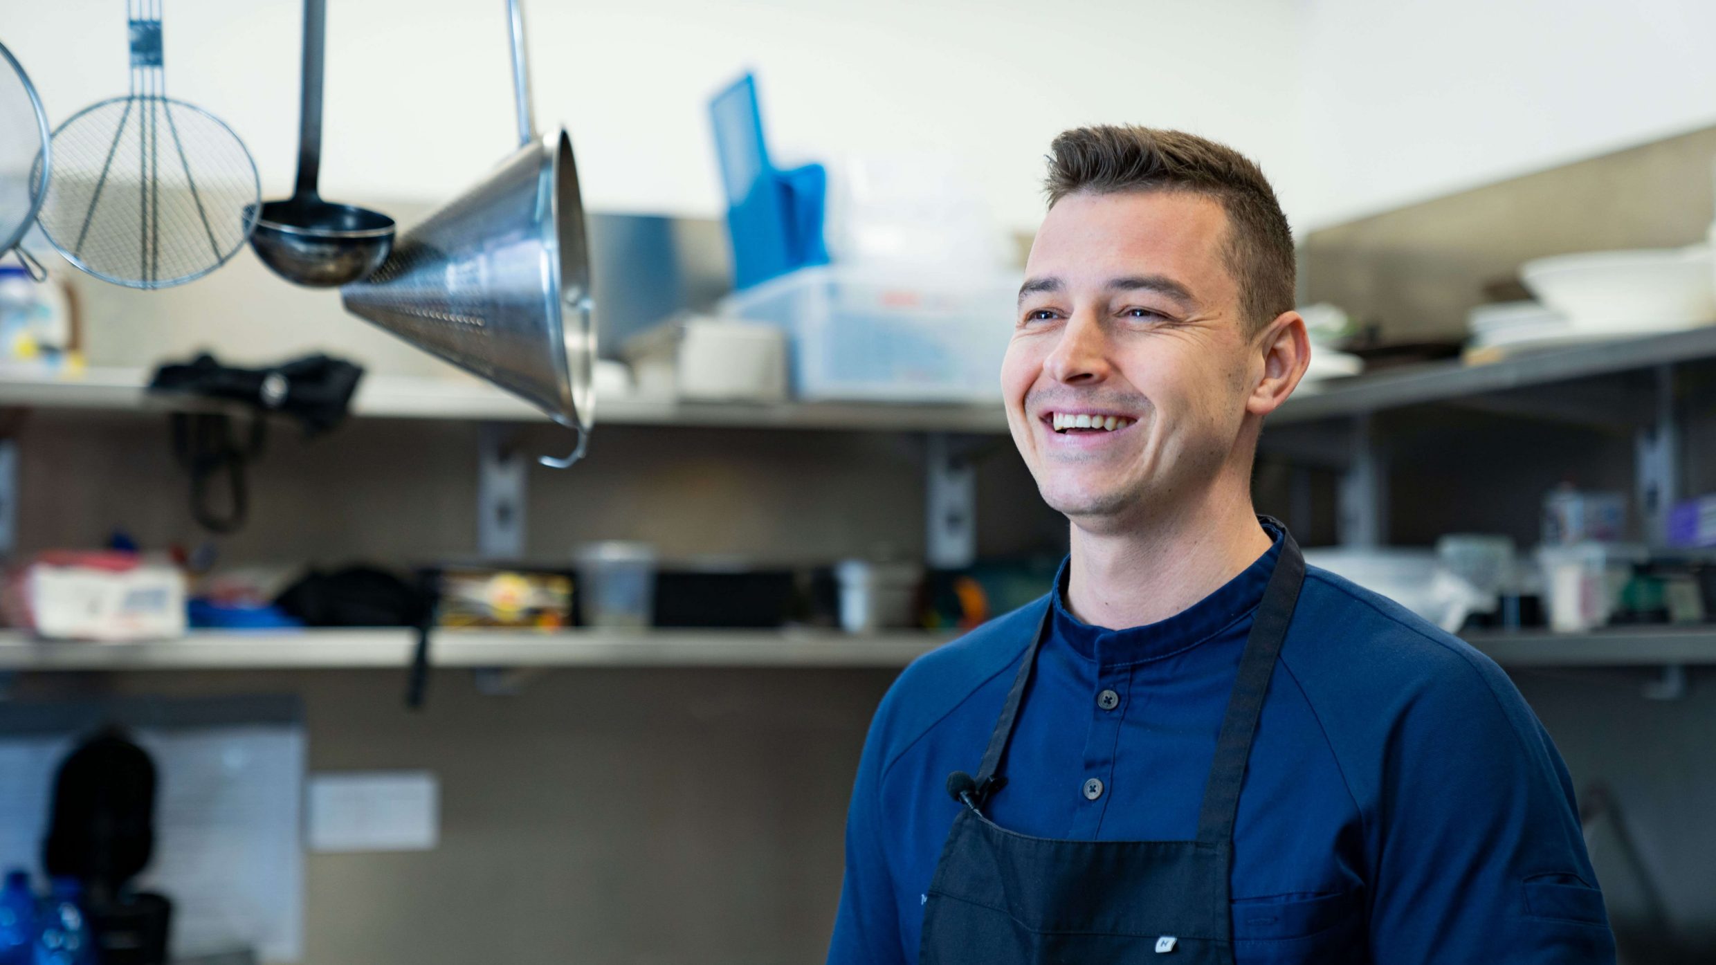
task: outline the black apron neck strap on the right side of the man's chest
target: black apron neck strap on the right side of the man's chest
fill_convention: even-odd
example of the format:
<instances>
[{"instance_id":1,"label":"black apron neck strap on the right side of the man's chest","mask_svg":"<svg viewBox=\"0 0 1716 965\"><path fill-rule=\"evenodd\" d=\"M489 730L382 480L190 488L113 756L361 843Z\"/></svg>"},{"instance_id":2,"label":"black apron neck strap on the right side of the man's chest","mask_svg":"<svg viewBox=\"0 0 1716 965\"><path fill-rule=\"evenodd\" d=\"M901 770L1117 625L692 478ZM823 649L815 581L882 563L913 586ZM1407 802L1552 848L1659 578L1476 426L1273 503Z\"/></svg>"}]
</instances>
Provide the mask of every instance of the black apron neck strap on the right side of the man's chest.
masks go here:
<instances>
[{"instance_id":1,"label":"black apron neck strap on the right side of the man's chest","mask_svg":"<svg viewBox=\"0 0 1716 965\"><path fill-rule=\"evenodd\" d=\"M1275 560L1275 572L1270 574L1270 582L1263 589L1263 601L1258 603L1258 611L1251 618L1251 635L1246 637L1246 651L1239 658L1234 694L1227 701L1222 733L1215 740L1210 781L1205 785L1203 807L1198 812L1199 841L1230 841L1234 838L1234 817L1239 814L1239 788L1246 781L1246 761L1251 759L1251 738L1258 730L1270 677L1275 675L1275 658L1282 652L1294 604L1299 603L1304 556L1287 527L1280 527L1280 531L1282 551Z\"/></svg>"}]
</instances>

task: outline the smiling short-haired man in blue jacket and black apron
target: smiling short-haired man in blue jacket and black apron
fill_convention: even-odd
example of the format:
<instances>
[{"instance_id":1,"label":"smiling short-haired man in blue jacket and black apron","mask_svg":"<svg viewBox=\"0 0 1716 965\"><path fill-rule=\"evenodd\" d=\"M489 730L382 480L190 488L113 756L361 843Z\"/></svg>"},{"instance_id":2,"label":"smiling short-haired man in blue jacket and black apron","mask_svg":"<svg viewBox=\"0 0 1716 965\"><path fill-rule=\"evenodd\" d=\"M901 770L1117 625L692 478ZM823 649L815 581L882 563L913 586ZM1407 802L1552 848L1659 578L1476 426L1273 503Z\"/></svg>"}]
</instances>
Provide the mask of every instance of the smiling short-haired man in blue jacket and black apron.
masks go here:
<instances>
[{"instance_id":1,"label":"smiling short-haired man in blue jacket and black apron","mask_svg":"<svg viewBox=\"0 0 1716 965\"><path fill-rule=\"evenodd\" d=\"M1055 139L1002 367L1050 592L913 663L853 788L836 965L1615 960L1508 678L1251 507L1309 359L1263 173Z\"/></svg>"}]
</instances>

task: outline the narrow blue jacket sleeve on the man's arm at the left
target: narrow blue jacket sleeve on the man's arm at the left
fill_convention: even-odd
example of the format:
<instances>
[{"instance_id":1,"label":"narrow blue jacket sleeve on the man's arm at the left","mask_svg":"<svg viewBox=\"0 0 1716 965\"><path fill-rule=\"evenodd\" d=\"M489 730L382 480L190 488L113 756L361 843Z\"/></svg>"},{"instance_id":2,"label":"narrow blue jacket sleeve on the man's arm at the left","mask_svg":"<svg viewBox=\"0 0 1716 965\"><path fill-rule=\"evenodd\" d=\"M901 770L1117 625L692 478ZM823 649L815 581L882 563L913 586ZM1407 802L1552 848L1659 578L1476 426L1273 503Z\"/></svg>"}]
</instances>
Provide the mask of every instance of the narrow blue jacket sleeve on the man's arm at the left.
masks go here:
<instances>
[{"instance_id":1,"label":"narrow blue jacket sleeve on the man's arm at the left","mask_svg":"<svg viewBox=\"0 0 1716 965\"><path fill-rule=\"evenodd\" d=\"M892 697L892 694L889 695ZM882 768L887 757L884 699L870 723L858 778L846 810L846 876L829 943L829 965L906 965L899 939L899 905L882 838Z\"/></svg>"}]
</instances>

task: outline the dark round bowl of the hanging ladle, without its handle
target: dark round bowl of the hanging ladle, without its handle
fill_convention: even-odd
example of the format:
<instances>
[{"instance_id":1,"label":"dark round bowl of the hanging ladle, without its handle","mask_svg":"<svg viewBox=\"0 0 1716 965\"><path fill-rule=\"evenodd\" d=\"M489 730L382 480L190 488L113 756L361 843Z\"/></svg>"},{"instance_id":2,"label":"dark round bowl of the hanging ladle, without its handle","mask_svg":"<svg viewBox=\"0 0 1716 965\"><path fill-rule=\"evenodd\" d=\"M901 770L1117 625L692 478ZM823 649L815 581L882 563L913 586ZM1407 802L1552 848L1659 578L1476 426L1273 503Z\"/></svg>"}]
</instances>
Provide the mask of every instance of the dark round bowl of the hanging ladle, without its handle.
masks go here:
<instances>
[{"instance_id":1,"label":"dark round bowl of the hanging ladle, without its handle","mask_svg":"<svg viewBox=\"0 0 1716 965\"><path fill-rule=\"evenodd\" d=\"M381 211L295 194L263 204L251 247L287 282L338 288L381 268L393 230L393 218Z\"/></svg>"}]
</instances>

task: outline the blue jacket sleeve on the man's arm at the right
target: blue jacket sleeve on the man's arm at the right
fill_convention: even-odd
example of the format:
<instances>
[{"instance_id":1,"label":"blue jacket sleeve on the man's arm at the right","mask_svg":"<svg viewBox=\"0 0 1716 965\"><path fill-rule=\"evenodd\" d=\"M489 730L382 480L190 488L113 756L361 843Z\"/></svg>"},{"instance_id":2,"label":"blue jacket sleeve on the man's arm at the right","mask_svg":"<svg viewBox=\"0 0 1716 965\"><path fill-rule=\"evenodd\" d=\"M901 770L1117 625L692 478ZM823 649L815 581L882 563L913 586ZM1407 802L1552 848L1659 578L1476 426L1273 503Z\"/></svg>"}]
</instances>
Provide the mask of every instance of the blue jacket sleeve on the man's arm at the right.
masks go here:
<instances>
[{"instance_id":1,"label":"blue jacket sleeve on the man's arm at the right","mask_svg":"<svg viewBox=\"0 0 1716 965\"><path fill-rule=\"evenodd\" d=\"M1378 821L1375 962L1613 965L1567 768L1488 661L1405 699Z\"/></svg>"}]
</instances>

